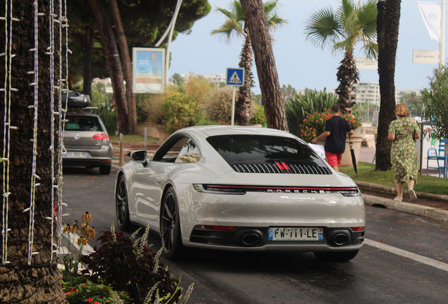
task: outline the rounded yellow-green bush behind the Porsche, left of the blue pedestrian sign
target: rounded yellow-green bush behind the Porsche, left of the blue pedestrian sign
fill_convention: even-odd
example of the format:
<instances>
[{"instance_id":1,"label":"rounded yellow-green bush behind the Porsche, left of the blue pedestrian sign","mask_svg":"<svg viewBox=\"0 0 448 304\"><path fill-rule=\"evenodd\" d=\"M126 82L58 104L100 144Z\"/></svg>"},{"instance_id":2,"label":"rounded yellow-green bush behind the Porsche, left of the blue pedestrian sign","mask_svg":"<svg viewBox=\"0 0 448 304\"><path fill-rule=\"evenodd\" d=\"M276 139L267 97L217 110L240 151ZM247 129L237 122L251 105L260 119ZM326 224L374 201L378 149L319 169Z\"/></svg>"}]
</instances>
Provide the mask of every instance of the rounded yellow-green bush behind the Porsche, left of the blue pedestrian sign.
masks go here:
<instances>
[{"instance_id":1,"label":"rounded yellow-green bush behind the Porsche, left of the blue pedestrian sign","mask_svg":"<svg viewBox=\"0 0 448 304\"><path fill-rule=\"evenodd\" d=\"M169 133L192 127L199 118L198 102L180 92L171 94L161 103L161 120Z\"/></svg>"}]
</instances>

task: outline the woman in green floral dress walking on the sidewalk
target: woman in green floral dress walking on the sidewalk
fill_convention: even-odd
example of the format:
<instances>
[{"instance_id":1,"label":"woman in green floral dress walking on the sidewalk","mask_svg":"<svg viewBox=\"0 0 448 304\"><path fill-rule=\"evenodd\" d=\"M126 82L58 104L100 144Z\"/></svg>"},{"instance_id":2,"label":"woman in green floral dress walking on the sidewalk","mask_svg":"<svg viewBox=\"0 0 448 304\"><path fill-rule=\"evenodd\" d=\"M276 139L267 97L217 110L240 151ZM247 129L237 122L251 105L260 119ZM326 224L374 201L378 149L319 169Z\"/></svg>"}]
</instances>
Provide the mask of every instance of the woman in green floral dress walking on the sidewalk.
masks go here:
<instances>
[{"instance_id":1,"label":"woman in green floral dress walking on the sidewalk","mask_svg":"<svg viewBox=\"0 0 448 304\"><path fill-rule=\"evenodd\" d=\"M387 135L387 139L392 141L390 161L397 183L398 196L394 198L394 201L403 200L404 183L408 184L411 201L415 201L417 196L413 185L417 181L418 168L416 145L413 141L420 138L420 128L415 120L407 118L409 110L404 104L397 105L395 114L398 119L390 123Z\"/></svg>"}]
</instances>

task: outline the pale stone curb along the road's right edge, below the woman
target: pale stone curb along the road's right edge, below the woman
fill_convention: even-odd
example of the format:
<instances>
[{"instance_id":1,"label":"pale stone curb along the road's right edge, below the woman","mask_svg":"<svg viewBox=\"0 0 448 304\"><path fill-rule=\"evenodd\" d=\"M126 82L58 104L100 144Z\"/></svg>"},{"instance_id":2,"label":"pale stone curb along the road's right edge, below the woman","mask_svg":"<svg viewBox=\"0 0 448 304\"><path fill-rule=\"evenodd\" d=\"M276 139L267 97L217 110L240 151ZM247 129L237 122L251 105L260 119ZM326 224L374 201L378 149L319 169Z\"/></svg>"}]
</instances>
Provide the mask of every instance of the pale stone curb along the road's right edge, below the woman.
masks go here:
<instances>
[{"instance_id":1,"label":"pale stone curb along the road's right edge, below the woman","mask_svg":"<svg viewBox=\"0 0 448 304\"><path fill-rule=\"evenodd\" d=\"M413 203L398 202L388 198L381 198L368 194L363 194L362 198L366 205L383 205L388 209L411 213L413 215L421 215L424 217L433 218L435 220L448 222L448 210L437 209L424 205L416 205Z\"/></svg>"}]
</instances>

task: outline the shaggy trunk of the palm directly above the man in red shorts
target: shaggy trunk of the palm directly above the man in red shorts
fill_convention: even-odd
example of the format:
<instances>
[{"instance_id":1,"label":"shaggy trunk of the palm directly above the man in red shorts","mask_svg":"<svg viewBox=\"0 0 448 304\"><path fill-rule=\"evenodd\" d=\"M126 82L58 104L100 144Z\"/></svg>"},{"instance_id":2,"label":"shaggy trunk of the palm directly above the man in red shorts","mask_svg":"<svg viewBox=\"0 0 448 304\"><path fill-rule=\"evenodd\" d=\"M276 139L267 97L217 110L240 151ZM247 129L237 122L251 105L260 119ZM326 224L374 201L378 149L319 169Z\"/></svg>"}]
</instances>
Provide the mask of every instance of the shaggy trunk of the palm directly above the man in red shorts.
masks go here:
<instances>
[{"instance_id":1,"label":"shaggy trunk of the palm directly above the man in red shorts","mask_svg":"<svg viewBox=\"0 0 448 304\"><path fill-rule=\"evenodd\" d=\"M353 90L354 85L359 80L359 72L354 62L353 51L345 51L344 59L341 61L339 68L337 68L336 76L337 81L340 83L336 89L336 94L339 96L340 110L341 113L347 113L356 103Z\"/></svg>"}]
</instances>

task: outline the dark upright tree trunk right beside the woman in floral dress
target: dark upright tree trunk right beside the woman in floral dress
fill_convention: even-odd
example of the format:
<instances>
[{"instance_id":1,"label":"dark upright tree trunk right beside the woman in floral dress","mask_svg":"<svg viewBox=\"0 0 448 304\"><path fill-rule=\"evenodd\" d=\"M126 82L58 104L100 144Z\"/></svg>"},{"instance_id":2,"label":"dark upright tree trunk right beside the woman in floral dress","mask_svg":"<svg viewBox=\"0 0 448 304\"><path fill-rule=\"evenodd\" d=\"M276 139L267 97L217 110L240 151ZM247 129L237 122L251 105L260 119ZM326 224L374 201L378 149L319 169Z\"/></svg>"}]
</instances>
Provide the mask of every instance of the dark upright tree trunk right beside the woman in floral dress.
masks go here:
<instances>
[{"instance_id":1,"label":"dark upright tree trunk right beside the woman in floral dress","mask_svg":"<svg viewBox=\"0 0 448 304\"><path fill-rule=\"evenodd\" d=\"M391 142L387 139L390 122L397 117L395 110L395 58L397 56L398 29L401 0L378 1L378 75L380 76L380 115L376 139L375 170L387 171L390 162Z\"/></svg>"}]
</instances>

